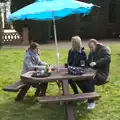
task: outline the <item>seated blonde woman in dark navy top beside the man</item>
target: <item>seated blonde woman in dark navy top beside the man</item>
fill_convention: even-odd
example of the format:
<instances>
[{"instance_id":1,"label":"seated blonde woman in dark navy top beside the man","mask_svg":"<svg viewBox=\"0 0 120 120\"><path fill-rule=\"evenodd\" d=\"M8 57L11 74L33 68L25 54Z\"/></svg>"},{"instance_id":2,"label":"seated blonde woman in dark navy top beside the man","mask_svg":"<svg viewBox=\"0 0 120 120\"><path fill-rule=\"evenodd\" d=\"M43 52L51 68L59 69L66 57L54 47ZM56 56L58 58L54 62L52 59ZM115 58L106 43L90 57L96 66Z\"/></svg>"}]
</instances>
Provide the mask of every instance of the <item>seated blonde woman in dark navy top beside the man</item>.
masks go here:
<instances>
[{"instance_id":1,"label":"seated blonde woman in dark navy top beside the man","mask_svg":"<svg viewBox=\"0 0 120 120\"><path fill-rule=\"evenodd\" d=\"M68 52L68 66L74 67L85 67L86 65L86 52L82 46L82 41L79 36L74 36L71 39L72 48ZM74 94L79 94L76 83L73 80L68 80L70 86L72 87Z\"/></svg>"}]
</instances>

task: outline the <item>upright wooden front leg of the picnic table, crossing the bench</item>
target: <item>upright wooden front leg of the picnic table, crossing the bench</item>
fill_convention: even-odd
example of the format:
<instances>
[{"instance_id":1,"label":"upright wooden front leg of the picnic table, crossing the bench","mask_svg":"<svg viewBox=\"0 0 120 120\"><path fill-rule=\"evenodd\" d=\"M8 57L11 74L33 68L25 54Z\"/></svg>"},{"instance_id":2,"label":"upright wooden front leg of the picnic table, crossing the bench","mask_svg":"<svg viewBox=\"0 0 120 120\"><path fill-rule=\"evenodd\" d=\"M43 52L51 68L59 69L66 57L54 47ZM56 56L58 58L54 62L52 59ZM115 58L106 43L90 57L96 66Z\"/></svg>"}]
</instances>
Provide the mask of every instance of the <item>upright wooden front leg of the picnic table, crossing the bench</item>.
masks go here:
<instances>
[{"instance_id":1,"label":"upright wooden front leg of the picnic table, crossing the bench","mask_svg":"<svg viewBox=\"0 0 120 120\"><path fill-rule=\"evenodd\" d=\"M64 95L69 95L70 93L68 80L62 80L62 83ZM67 120L75 120L72 103L65 102L65 110L67 114Z\"/></svg>"}]
</instances>

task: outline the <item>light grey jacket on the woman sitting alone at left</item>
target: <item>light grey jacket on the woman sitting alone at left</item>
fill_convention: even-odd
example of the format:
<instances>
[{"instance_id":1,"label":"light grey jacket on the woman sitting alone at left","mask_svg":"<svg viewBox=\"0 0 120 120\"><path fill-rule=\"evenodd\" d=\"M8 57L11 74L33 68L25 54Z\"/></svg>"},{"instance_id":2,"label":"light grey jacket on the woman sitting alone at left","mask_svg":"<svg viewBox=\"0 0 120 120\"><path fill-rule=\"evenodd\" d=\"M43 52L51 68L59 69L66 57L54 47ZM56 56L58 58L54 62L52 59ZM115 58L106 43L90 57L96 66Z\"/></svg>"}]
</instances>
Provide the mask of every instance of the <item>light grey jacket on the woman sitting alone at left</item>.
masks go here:
<instances>
[{"instance_id":1,"label":"light grey jacket on the woman sitting alone at left","mask_svg":"<svg viewBox=\"0 0 120 120\"><path fill-rule=\"evenodd\" d=\"M44 69L45 65L45 62L40 61L40 56L38 54L34 55L32 51L27 50L24 55L24 63L21 74L24 74L28 71Z\"/></svg>"}]
</instances>

